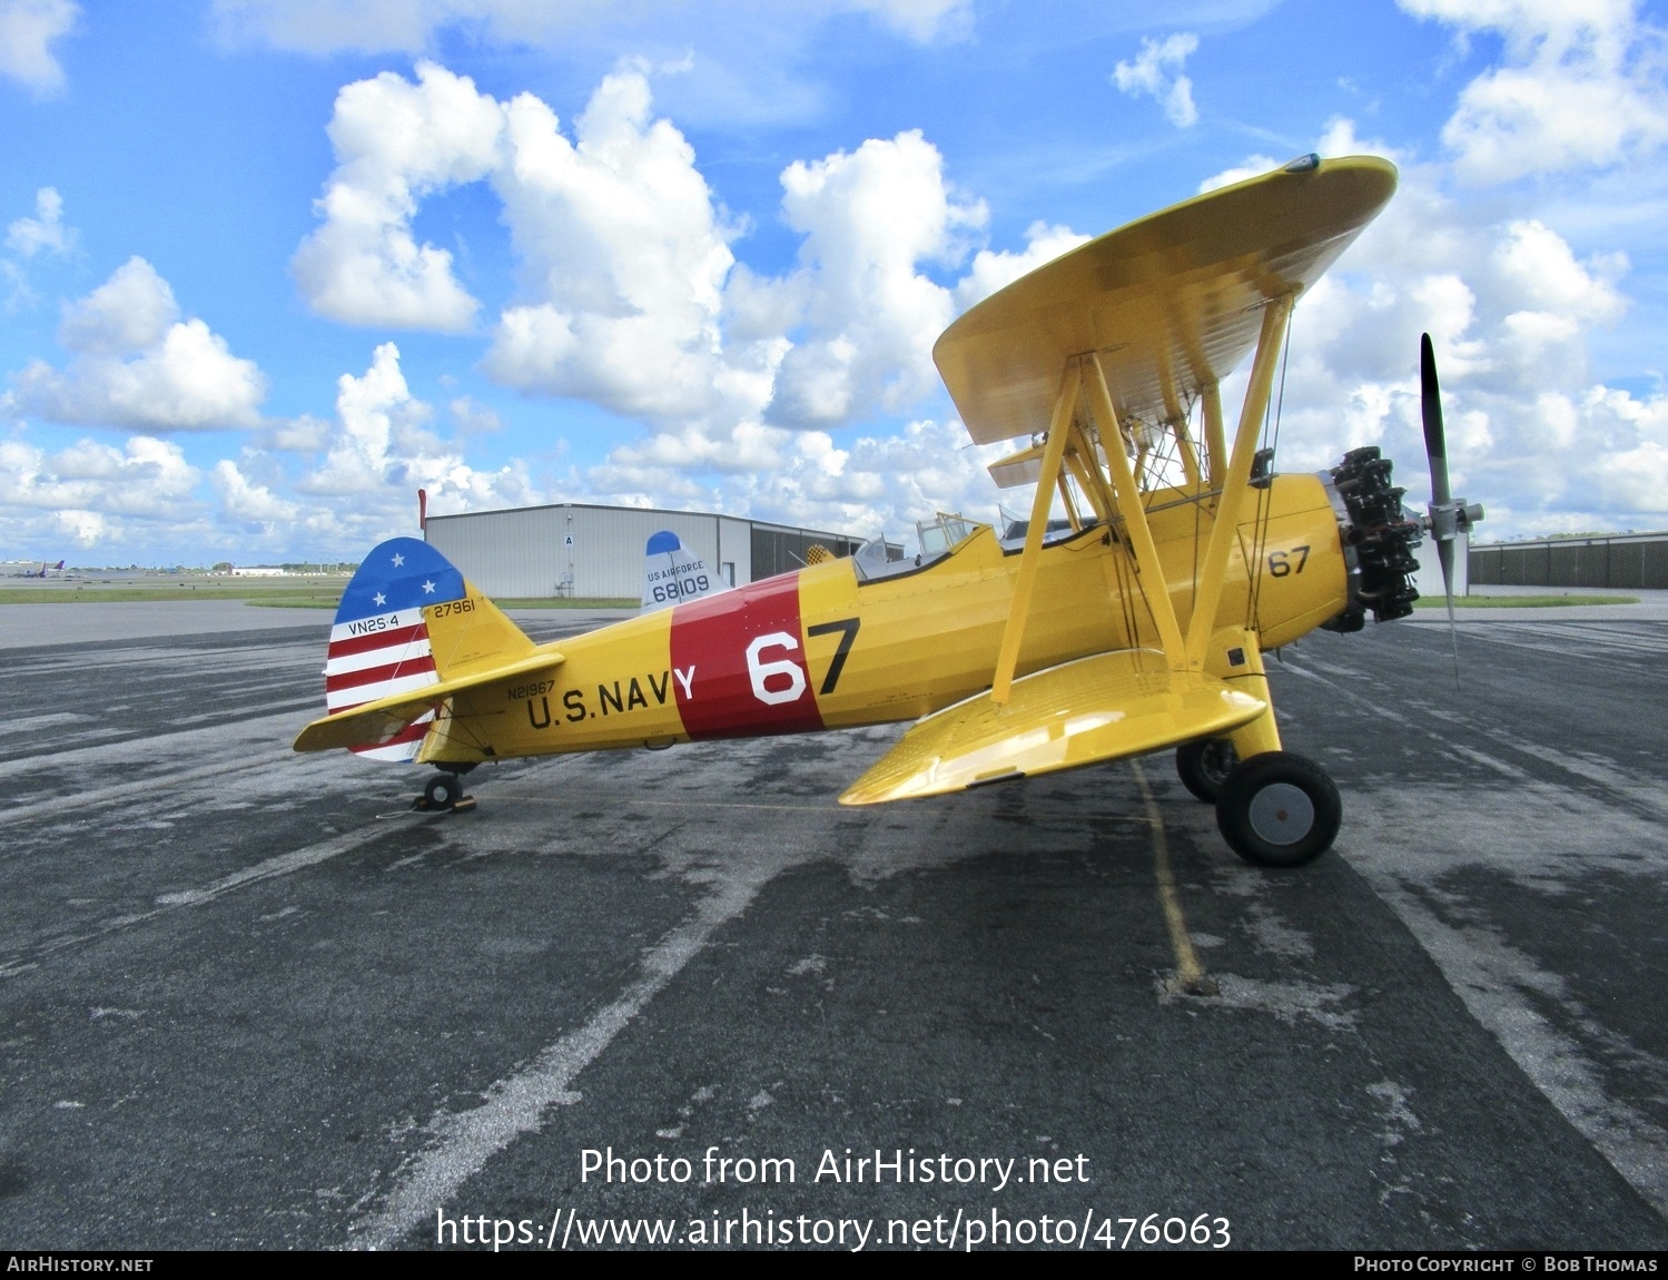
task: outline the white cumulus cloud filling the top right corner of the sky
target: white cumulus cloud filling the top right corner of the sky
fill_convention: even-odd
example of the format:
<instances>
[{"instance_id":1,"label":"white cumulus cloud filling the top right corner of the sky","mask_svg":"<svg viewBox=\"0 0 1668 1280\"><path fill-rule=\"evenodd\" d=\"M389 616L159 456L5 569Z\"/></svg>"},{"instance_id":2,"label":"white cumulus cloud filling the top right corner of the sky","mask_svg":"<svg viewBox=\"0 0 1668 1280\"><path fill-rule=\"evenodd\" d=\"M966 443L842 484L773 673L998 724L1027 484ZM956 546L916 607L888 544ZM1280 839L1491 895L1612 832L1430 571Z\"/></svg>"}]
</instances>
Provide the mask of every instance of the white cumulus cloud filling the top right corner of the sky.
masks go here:
<instances>
[{"instance_id":1,"label":"white cumulus cloud filling the top right corner of the sky","mask_svg":"<svg viewBox=\"0 0 1668 1280\"><path fill-rule=\"evenodd\" d=\"M1498 32L1503 65L1460 93L1443 127L1475 182L1610 167L1668 140L1661 33L1633 0L1401 0L1461 32Z\"/></svg>"}]
</instances>

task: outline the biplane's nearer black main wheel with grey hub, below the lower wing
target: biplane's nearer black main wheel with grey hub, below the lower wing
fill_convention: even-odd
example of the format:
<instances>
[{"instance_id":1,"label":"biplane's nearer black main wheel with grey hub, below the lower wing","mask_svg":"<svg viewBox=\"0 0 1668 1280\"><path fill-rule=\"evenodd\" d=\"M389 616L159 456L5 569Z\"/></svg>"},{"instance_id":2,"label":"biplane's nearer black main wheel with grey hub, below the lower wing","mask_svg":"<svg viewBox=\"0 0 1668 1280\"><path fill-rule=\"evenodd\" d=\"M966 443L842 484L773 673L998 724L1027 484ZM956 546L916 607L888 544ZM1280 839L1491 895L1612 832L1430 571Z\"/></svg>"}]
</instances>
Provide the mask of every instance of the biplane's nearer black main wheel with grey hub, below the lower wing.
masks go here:
<instances>
[{"instance_id":1,"label":"biplane's nearer black main wheel with grey hub, below the lower wing","mask_svg":"<svg viewBox=\"0 0 1668 1280\"><path fill-rule=\"evenodd\" d=\"M1289 751L1236 764L1216 796L1223 839L1258 866L1313 863L1333 846L1343 814L1333 779Z\"/></svg>"}]
</instances>

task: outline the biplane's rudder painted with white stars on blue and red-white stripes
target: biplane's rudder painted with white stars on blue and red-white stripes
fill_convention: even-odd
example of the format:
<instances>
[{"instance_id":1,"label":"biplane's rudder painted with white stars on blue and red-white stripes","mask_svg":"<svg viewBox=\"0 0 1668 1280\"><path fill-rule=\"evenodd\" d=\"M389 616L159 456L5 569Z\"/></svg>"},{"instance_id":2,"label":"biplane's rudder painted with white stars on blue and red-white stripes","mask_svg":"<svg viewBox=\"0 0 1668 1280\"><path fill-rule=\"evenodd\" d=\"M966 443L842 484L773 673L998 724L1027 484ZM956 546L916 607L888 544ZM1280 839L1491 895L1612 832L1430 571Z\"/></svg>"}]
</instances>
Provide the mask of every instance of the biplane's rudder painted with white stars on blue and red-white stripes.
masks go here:
<instances>
[{"instance_id":1,"label":"biplane's rudder painted with white stars on blue and red-white stripes","mask_svg":"<svg viewBox=\"0 0 1668 1280\"><path fill-rule=\"evenodd\" d=\"M342 592L330 627L324 688L330 714L439 684L424 607L464 599L464 576L427 542L394 537L359 566ZM434 713L382 741L352 748L359 756L412 761Z\"/></svg>"}]
</instances>

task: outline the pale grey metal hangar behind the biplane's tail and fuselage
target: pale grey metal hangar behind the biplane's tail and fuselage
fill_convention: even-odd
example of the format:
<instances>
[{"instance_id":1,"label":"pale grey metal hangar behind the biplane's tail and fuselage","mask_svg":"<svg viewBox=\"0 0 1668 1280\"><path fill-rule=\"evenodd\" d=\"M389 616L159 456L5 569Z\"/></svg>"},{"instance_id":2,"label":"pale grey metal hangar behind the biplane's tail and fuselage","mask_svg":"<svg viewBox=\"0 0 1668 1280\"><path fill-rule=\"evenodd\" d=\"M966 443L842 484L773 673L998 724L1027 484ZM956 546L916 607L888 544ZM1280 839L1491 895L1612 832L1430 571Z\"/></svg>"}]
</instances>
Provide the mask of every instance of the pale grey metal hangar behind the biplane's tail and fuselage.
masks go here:
<instances>
[{"instance_id":1,"label":"pale grey metal hangar behind the biplane's tail and fuselage","mask_svg":"<svg viewBox=\"0 0 1668 1280\"><path fill-rule=\"evenodd\" d=\"M734 586L799 569L814 544L852 554L862 539L736 516L557 502L429 516L424 537L489 596L642 596L644 549L671 529Z\"/></svg>"}]
</instances>

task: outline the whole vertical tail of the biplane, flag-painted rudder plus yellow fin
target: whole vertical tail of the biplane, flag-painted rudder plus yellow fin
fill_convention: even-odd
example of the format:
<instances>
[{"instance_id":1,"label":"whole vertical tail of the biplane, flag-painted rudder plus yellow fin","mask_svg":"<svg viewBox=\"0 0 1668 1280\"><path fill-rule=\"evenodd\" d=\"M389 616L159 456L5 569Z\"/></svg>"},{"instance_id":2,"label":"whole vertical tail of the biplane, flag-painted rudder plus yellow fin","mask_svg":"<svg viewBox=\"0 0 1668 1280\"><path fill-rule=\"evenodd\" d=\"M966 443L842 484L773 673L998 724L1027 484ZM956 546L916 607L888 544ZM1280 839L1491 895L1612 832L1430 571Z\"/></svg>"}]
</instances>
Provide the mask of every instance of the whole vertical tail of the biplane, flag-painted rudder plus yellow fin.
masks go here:
<instances>
[{"instance_id":1,"label":"whole vertical tail of the biplane, flag-painted rudder plus yellow fin","mask_svg":"<svg viewBox=\"0 0 1668 1280\"><path fill-rule=\"evenodd\" d=\"M334 716L532 648L445 556L415 537L395 537L365 557L342 592L324 668L325 706ZM412 761L432 723L430 713L350 749L372 759Z\"/></svg>"}]
</instances>

